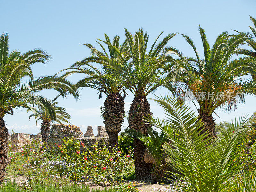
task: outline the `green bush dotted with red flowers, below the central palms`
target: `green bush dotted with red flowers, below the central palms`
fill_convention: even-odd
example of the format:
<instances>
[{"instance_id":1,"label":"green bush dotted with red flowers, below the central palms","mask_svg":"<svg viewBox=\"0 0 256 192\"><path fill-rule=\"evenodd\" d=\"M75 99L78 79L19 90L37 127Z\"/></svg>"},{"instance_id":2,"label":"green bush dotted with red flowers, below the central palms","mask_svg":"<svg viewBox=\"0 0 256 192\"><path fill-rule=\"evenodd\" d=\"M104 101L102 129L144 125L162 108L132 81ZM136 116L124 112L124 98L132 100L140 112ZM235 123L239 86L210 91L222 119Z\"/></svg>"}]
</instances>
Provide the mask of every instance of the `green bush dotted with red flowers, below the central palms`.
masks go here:
<instances>
[{"instance_id":1,"label":"green bush dotted with red flowers, below the central palms","mask_svg":"<svg viewBox=\"0 0 256 192\"><path fill-rule=\"evenodd\" d=\"M105 145L100 148L95 143L92 145L93 150L86 149L84 153L80 151L81 146L84 147L84 143L74 138L64 138L63 144L58 145L68 164L69 175L75 182L83 179L84 182L92 180L94 183L102 183L108 179L113 183L117 178L122 179L131 174L131 152L123 156L120 150L108 149Z\"/></svg>"}]
</instances>

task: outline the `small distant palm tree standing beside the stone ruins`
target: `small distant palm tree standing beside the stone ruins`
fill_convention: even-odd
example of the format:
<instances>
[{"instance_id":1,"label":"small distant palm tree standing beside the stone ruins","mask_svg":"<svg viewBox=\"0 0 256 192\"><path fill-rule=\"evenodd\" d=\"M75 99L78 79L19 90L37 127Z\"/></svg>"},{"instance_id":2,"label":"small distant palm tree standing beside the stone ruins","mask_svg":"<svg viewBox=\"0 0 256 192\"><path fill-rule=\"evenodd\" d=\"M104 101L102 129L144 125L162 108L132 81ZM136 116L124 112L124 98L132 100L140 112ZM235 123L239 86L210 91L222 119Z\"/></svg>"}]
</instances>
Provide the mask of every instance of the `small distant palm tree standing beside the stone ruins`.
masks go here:
<instances>
[{"instance_id":1,"label":"small distant palm tree standing beside the stone ruins","mask_svg":"<svg viewBox=\"0 0 256 192\"><path fill-rule=\"evenodd\" d=\"M49 102L51 102L49 100ZM66 122L69 123L68 120L70 120L70 115L65 112L66 109L63 107L58 107L56 106L58 104L58 102L55 102L54 100L51 102L52 107L54 109L55 112L55 118L52 118L51 114L49 113L49 111L44 108L44 106L39 105L38 109L36 110L36 113L32 113L29 116L29 119L31 117L35 117L36 119L36 124L38 120L43 120L42 124L41 124L41 135L42 135L42 141L43 142L47 142L48 141L48 136L50 134L50 123L53 122L58 122L59 124L62 124L62 122ZM31 109L28 109L27 112L31 111Z\"/></svg>"}]
</instances>

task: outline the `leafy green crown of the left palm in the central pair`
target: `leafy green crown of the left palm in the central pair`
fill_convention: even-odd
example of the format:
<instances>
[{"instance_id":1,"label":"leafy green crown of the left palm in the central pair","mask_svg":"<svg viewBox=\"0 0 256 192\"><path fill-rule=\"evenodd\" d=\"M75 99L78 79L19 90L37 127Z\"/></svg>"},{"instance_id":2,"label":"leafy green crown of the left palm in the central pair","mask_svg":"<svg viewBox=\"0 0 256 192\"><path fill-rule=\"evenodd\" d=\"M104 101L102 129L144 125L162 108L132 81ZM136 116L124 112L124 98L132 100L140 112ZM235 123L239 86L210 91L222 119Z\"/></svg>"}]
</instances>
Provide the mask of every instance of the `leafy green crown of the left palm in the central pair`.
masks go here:
<instances>
[{"instance_id":1,"label":"leafy green crown of the left palm in the central pair","mask_svg":"<svg viewBox=\"0 0 256 192\"><path fill-rule=\"evenodd\" d=\"M109 94L120 94L124 92L123 84L120 83L122 70L117 71L113 68L109 68L109 64L122 65L122 59L129 60L130 55L128 52L127 42L124 41L119 45L119 36L113 38L111 43L109 37L105 34L105 41L98 39L96 42L100 45L103 52L97 50L91 44L83 44L91 49L92 56L86 57L83 60L76 62L71 68L65 69L68 72L64 73L62 77L67 77L74 73L82 73L87 75L77 83L77 87L90 87L99 90L99 98L102 97L102 93ZM107 45L109 53L104 48L104 44ZM122 55L122 58L119 54ZM100 64L100 68L90 63ZM86 67L82 67L86 66Z\"/></svg>"}]
</instances>

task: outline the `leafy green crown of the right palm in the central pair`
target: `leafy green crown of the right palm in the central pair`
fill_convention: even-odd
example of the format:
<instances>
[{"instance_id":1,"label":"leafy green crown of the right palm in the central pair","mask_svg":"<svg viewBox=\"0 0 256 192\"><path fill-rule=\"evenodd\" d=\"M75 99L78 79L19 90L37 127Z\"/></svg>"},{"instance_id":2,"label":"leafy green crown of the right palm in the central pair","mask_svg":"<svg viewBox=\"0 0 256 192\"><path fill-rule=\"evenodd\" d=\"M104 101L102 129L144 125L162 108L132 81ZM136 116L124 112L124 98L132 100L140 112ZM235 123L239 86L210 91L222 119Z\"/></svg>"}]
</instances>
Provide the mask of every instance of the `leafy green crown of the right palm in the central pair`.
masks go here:
<instances>
[{"instance_id":1,"label":"leafy green crown of the right palm in the central pair","mask_svg":"<svg viewBox=\"0 0 256 192\"><path fill-rule=\"evenodd\" d=\"M158 36L147 53L148 34L144 34L143 29L139 29L139 31L132 36L132 34L125 29L131 59L127 60L126 55L116 50L121 59L121 63L108 62L105 65L120 73L122 71L123 84L134 96L146 97L150 92L155 91L159 87L165 87L173 92L173 88L170 84L171 76L166 75L172 67L172 64L169 64L172 57L163 55L162 51L168 41L175 35L176 33L167 35L156 45L159 38Z\"/></svg>"}]
</instances>

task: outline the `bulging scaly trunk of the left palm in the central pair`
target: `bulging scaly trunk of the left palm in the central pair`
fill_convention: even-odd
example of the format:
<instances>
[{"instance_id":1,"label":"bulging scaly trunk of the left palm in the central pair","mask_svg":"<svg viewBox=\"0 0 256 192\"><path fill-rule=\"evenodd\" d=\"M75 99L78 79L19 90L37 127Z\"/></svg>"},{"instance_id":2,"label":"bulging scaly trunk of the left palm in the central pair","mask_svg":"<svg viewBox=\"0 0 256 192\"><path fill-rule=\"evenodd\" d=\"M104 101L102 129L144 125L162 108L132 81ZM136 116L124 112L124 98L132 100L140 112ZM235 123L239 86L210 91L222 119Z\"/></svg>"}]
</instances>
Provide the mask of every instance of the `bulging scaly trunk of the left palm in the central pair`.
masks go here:
<instances>
[{"instance_id":1,"label":"bulging scaly trunk of the left palm in the central pair","mask_svg":"<svg viewBox=\"0 0 256 192\"><path fill-rule=\"evenodd\" d=\"M118 147L118 134L124 122L124 100L120 94L110 94L104 101L103 113L108 142L110 147Z\"/></svg>"}]
</instances>

